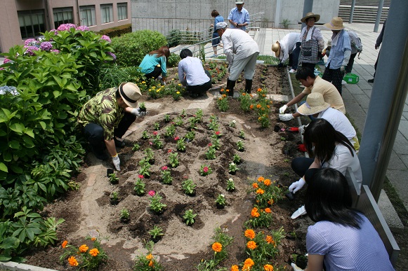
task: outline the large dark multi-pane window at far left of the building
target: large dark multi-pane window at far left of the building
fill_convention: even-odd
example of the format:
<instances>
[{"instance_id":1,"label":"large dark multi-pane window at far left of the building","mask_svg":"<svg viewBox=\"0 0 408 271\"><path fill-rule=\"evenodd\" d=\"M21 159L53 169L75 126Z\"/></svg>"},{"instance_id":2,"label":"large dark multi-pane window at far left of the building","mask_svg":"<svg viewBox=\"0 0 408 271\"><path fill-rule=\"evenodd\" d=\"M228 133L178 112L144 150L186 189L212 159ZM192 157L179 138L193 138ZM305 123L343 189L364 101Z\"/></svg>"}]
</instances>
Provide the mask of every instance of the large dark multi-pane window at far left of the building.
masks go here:
<instances>
[{"instance_id":1,"label":"large dark multi-pane window at far left of the building","mask_svg":"<svg viewBox=\"0 0 408 271\"><path fill-rule=\"evenodd\" d=\"M21 38L34 38L41 36L40 32L46 32L44 24L44 9L33 11L18 11Z\"/></svg>"}]
</instances>

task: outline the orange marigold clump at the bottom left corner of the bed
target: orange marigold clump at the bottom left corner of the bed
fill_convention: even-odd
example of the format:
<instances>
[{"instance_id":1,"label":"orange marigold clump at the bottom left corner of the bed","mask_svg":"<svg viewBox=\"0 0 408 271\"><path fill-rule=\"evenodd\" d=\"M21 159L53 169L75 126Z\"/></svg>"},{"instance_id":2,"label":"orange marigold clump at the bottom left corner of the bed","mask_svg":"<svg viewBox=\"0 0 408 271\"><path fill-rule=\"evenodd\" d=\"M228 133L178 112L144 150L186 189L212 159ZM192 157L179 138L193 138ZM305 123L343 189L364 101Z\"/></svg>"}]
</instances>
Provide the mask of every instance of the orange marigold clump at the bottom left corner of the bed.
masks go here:
<instances>
[{"instance_id":1,"label":"orange marigold clump at the bottom left corner of the bed","mask_svg":"<svg viewBox=\"0 0 408 271\"><path fill-rule=\"evenodd\" d=\"M64 252L60 256L60 262L64 263L66 260L69 265L77 267L80 270L98 270L100 264L106 263L107 253L100 245L100 242L106 238L102 237L98 239L96 237L87 236L85 239L93 241L92 249L86 244L77 247L68 244L67 240L62 242Z\"/></svg>"}]
</instances>

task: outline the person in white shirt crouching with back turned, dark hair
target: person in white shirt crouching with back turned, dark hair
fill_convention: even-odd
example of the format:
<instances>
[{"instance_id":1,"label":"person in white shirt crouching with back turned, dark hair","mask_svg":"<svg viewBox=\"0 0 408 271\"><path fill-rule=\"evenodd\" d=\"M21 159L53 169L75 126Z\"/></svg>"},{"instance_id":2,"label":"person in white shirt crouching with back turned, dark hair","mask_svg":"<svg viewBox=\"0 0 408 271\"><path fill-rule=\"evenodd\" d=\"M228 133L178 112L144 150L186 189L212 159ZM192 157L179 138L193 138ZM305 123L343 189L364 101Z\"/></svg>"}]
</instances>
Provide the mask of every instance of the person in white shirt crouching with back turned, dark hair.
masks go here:
<instances>
[{"instance_id":1,"label":"person in white shirt crouching with back turned, dark hair","mask_svg":"<svg viewBox=\"0 0 408 271\"><path fill-rule=\"evenodd\" d=\"M180 52L180 62L178 62L178 78L185 86L190 97L198 97L211 88L211 75L204 70L202 61L197 57L192 57L192 52L183 49Z\"/></svg>"}]
</instances>

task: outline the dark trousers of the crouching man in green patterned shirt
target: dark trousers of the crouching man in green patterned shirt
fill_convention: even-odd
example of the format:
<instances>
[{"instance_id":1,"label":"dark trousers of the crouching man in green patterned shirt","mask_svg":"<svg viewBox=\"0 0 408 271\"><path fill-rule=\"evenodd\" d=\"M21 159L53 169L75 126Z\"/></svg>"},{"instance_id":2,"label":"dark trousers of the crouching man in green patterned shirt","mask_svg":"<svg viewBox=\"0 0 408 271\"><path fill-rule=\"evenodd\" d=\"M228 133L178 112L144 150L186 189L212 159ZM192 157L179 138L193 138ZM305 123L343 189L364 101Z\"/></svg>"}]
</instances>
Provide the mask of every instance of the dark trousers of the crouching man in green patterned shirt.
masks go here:
<instances>
[{"instance_id":1,"label":"dark trousers of the crouching man in green patterned shirt","mask_svg":"<svg viewBox=\"0 0 408 271\"><path fill-rule=\"evenodd\" d=\"M133 116L131 113L124 113L124 117L121 119L117 128L114 129L114 136L119 139L123 137L125 132L129 129L131 124L136 120L136 116ZM88 139L89 145L93 151L102 153L105 149L105 141L103 136L103 127L96 123L88 123L82 129L84 136Z\"/></svg>"}]
</instances>

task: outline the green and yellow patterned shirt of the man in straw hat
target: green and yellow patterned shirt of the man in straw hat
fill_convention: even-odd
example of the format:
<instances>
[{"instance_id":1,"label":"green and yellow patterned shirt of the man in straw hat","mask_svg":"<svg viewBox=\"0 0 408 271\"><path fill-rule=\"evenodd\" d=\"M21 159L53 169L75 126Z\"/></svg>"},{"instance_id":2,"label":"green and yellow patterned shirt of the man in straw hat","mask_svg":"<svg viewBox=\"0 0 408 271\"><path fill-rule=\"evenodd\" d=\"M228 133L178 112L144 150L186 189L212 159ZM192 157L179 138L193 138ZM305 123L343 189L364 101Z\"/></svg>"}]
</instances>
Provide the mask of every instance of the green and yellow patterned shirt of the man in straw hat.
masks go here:
<instances>
[{"instance_id":1,"label":"green and yellow patterned shirt of the man in straw hat","mask_svg":"<svg viewBox=\"0 0 408 271\"><path fill-rule=\"evenodd\" d=\"M117 88L109 88L98 92L82 107L78 116L78 123L85 127L88 123L95 123L103 128L103 138L112 140L114 128L124 116L124 109L119 107L115 97Z\"/></svg>"}]
</instances>

